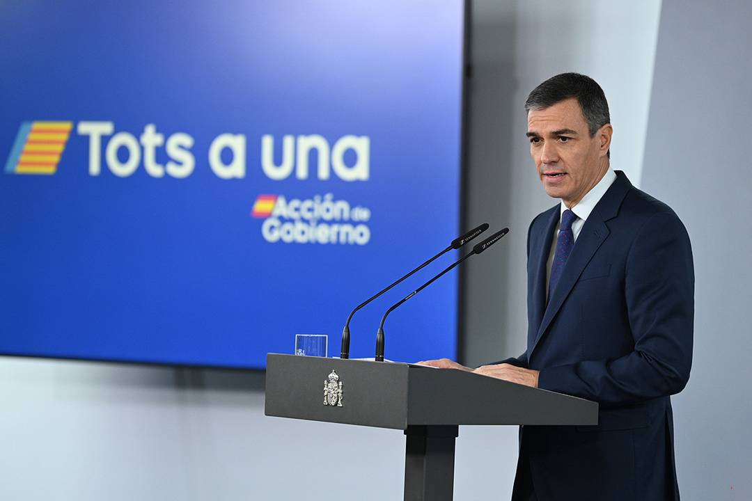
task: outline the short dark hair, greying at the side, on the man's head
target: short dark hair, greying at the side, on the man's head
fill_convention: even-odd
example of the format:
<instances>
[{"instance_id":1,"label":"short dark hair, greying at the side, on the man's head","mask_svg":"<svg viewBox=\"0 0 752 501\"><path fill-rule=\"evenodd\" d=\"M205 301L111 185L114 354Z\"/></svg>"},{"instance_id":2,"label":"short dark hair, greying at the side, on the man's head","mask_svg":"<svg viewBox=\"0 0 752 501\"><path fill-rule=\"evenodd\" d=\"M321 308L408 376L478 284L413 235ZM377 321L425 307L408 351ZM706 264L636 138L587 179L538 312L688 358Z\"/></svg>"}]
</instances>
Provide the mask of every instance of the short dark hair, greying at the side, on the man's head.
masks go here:
<instances>
[{"instance_id":1,"label":"short dark hair, greying at the side, on the man's head","mask_svg":"<svg viewBox=\"0 0 752 501\"><path fill-rule=\"evenodd\" d=\"M544 110L565 99L576 98L590 130L590 137L599 128L611 123L608 101L596 80L579 73L562 73L550 77L532 89L525 101L525 111Z\"/></svg>"}]
</instances>

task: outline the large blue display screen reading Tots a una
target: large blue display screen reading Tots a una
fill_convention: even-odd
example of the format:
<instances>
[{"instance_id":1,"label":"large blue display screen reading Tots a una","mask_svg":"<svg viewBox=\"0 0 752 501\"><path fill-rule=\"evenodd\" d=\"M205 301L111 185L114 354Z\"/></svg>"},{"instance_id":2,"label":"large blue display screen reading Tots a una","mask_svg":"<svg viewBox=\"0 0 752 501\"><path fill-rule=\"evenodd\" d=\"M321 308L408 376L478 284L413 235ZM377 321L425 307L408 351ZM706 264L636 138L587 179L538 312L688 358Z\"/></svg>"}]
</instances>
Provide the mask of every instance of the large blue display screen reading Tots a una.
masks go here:
<instances>
[{"instance_id":1,"label":"large blue display screen reading Tots a una","mask_svg":"<svg viewBox=\"0 0 752 501\"><path fill-rule=\"evenodd\" d=\"M263 368L459 228L464 2L0 4L0 353ZM358 312L373 357L384 311ZM386 357L456 354L456 270Z\"/></svg>"}]
</instances>

